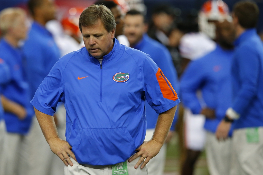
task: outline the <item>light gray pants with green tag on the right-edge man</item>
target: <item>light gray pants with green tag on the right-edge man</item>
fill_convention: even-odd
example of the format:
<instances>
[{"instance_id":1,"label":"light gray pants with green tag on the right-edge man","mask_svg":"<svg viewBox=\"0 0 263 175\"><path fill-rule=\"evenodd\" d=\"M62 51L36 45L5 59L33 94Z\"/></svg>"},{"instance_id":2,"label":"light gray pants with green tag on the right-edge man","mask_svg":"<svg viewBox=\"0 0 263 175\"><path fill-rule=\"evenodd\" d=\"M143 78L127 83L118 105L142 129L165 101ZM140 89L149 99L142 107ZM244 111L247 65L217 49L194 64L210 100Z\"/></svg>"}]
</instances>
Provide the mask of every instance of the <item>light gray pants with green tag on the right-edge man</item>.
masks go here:
<instances>
[{"instance_id":1,"label":"light gray pants with green tag on the right-edge man","mask_svg":"<svg viewBox=\"0 0 263 175\"><path fill-rule=\"evenodd\" d=\"M256 142L248 138L248 132L249 128L242 128L233 133L230 175L263 174L263 127L258 128Z\"/></svg>"}]
</instances>

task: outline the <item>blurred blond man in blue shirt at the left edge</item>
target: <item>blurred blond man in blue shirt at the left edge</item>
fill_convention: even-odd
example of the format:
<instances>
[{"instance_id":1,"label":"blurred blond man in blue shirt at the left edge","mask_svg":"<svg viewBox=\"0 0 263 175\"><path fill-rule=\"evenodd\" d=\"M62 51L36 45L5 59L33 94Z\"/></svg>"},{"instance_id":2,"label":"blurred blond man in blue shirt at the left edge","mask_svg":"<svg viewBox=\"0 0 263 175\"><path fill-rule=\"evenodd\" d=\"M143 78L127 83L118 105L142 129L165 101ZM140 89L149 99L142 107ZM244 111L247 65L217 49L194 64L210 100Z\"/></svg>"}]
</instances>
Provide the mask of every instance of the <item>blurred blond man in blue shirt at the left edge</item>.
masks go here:
<instances>
[{"instance_id":1,"label":"blurred blond man in blue shirt at the left edge","mask_svg":"<svg viewBox=\"0 0 263 175\"><path fill-rule=\"evenodd\" d=\"M7 8L1 11L0 28L3 38L0 40L0 58L8 65L10 81L1 87L6 139L1 151L1 170L5 174L17 174L18 165L27 161L24 155L30 155L27 149L27 135L34 111L30 106L29 86L25 73L25 60L19 47L19 41L27 37L26 12L20 8ZM21 149L23 148L23 149ZM2 167L3 166L3 167ZM28 166L28 164L27 164ZM20 169L21 174L28 174Z\"/></svg>"}]
</instances>

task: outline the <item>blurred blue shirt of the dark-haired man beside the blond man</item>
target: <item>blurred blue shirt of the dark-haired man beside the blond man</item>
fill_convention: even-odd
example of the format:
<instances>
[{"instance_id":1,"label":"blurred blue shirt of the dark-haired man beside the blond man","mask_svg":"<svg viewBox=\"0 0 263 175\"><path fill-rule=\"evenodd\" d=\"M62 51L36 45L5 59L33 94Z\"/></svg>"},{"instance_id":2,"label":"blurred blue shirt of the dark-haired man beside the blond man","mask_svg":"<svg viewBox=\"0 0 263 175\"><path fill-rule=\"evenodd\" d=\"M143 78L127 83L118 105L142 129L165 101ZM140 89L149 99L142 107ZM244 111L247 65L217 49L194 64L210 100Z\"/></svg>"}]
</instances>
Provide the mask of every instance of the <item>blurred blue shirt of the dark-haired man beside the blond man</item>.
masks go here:
<instances>
[{"instance_id":1,"label":"blurred blue shirt of the dark-haired man beside the blond man","mask_svg":"<svg viewBox=\"0 0 263 175\"><path fill-rule=\"evenodd\" d=\"M38 86L61 55L52 34L37 22L32 24L23 51L27 60L28 82L32 99Z\"/></svg>"}]
</instances>

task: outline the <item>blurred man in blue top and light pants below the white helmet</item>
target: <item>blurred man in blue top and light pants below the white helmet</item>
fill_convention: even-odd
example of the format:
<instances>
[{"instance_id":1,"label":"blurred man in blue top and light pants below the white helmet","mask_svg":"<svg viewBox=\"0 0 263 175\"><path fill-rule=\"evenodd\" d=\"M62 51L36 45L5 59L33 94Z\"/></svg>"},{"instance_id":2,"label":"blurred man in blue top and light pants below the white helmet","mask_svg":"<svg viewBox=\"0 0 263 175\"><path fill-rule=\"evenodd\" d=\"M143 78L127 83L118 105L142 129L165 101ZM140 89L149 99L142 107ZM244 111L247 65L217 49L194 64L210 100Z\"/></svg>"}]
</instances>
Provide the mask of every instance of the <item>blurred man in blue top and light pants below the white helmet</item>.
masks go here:
<instances>
[{"instance_id":1,"label":"blurred man in blue top and light pants below the white helmet","mask_svg":"<svg viewBox=\"0 0 263 175\"><path fill-rule=\"evenodd\" d=\"M192 61L181 76L183 103L193 114L206 115L204 128L206 156L211 175L228 175L230 172L231 140L220 143L216 128L231 105L231 63L233 57L234 28L230 22L216 25L216 49L202 58ZM202 107L196 95L201 90L206 107ZM229 133L231 135L231 131Z\"/></svg>"}]
</instances>

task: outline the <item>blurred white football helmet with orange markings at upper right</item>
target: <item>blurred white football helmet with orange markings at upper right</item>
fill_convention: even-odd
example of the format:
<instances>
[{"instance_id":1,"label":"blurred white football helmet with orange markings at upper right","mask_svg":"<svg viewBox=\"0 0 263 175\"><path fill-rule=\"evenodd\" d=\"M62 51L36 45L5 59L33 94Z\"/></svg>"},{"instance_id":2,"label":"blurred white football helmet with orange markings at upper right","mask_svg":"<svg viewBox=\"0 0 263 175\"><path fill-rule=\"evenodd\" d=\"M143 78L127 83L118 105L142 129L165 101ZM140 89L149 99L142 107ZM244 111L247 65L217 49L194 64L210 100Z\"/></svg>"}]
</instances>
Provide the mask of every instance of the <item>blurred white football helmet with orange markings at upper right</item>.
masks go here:
<instances>
[{"instance_id":1,"label":"blurred white football helmet with orange markings at upper right","mask_svg":"<svg viewBox=\"0 0 263 175\"><path fill-rule=\"evenodd\" d=\"M206 1L199 14L198 25L201 32L208 35L211 39L215 39L215 21L232 21L229 14L227 4L222 0L209 0Z\"/></svg>"}]
</instances>

